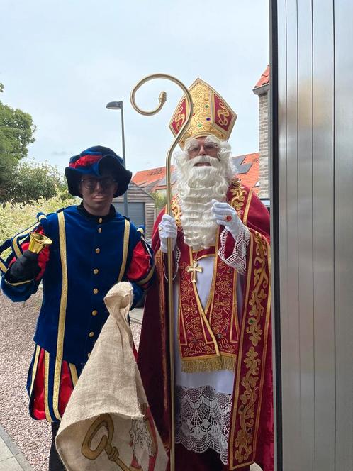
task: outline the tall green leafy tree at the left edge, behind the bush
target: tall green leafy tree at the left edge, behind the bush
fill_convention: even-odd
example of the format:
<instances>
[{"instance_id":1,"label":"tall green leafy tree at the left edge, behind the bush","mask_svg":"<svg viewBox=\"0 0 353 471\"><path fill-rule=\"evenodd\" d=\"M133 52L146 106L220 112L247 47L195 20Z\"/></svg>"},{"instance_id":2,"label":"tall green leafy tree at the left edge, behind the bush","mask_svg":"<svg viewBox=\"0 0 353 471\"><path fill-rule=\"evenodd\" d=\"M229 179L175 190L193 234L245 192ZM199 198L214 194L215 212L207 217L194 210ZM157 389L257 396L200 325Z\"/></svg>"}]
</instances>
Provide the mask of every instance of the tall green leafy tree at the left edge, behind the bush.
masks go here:
<instances>
[{"instance_id":1,"label":"tall green leafy tree at the left edge, behind the bush","mask_svg":"<svg viewBox=\"0 0 353 471\"><path fill-rule=\"evenodd\" d=\"M4 85L0 84L0 92ZM4 199L11 174L34 143L35 125L30 114L13 109L0 101L0 198Z\"/></svg>"}]
</instances>

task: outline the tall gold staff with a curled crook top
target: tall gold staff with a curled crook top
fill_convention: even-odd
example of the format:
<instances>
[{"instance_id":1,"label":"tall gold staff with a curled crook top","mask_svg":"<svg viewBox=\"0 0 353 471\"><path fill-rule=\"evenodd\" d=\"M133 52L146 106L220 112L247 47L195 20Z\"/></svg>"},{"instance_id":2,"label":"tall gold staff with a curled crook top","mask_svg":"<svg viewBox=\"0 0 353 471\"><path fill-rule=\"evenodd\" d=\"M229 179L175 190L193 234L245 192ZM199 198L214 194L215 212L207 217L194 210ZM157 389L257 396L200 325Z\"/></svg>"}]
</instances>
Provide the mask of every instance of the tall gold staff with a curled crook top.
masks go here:
<instances>
[{"instance_id":1,"label":"tall gold staff with a curled crook top","mask_svg":"<svg viewBox=\"0 0 353 471\"><path fill-rule=\"evenodd\" d=\"M167 153L167 158L166 158L166 176L167 176L167 213L169 216L172 216L172 208L171 208L171 199L172 199L172 184L171 184L171 175L170 175L170 162L172 160L172 153L173 150L176 148L177 144L179 143L179 140L184 134L184 131L186 131L186 128L189 127L194 109L193 109L193 103L191 100L191 94L189 90L185 87L185 85L180 82L179 79L176 77L173 77L172 75L168 74L152 74L152 75L147 75L144 79L140 80L137 85L133 88L133 91L131 92L130 95L130 101L131 104L133 105L133 108L138 111L138 113L143 114L145 116L152 116L153 114L158 113L160 111L167 100L167 94L166 92L161 92L159 94L159 105L157 108L155 108L152 111L143 111L138 107L138 105L135 102L135 93L138 91L138 89L145 84L146 82L149 82L150 80L153 79L166 79L170 80L171 82L174 82L175 84L179 85L179 87L183 90L184 94L186 95L186 100L188 101L189 104L189 114L184 122L183 126L181 126L179 133L175 137L172 145L170 146L168 153ZM174 471L175 469L175 410L174 410L174 404L175 404L175 394L174 394L174 309L173 309L173 260L172 260L172 239L168 238L168 311L169 311L169 371L170 371L170 409L171 409L171 431L170 431L170 470Z\"/></svg>"}]
</instances>

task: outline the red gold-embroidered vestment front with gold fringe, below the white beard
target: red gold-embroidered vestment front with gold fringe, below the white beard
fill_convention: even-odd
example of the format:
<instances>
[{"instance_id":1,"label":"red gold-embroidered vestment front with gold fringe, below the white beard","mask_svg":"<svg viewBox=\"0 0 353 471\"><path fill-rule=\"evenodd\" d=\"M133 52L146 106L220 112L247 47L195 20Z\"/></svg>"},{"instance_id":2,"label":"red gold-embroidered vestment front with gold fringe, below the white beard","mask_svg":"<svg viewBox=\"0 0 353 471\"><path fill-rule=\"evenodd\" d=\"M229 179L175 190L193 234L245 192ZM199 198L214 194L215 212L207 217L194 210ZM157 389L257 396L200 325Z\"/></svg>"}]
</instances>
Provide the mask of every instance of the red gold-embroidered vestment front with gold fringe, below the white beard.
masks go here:
<instances>
[{"instance_id":1,"label":"red gold-embroidered vestment front with gold fringe, below the white beard","mask_svg":"<svg viewBox=\"0 0 353 471\"><path fill-rule=\"evenodd\" d=\"M191 282L191 277L185 270L192 260L199 260L210 254L198 257L197 253L185 246L179 264L181 289L177 325L181 369L184 372L235 369L238 343L238 326L235 319L237 277L234 276L234 270L218 259L219 231L216 236L216 244L211 254L215 257L213 279L206 309L203 309L196 284ZM233 322L231 329L225 329L225 324L228 326Z\"/></svg>"}]
</instances>

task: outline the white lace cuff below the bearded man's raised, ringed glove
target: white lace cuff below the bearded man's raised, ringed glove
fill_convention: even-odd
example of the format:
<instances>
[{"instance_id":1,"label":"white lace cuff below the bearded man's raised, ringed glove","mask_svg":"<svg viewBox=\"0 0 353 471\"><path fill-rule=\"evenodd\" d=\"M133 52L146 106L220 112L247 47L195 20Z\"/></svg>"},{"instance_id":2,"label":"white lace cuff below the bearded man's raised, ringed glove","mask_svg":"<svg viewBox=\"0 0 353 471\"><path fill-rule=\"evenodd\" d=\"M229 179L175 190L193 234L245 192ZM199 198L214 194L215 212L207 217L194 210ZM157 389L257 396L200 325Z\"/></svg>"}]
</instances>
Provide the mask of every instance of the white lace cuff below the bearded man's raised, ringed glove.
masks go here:
<instances>
[{"instance_id":1,"label":"white lace cuff below the bearded man's raised, ringed glove","mask_svg":"<svg viewBox=\"0 0 353 471\"><path fill-rule=\"evenodd\" d=\"M240 231L235 240L232 255L226 258L225 241L227 240L228 234L229 231L226 228L224 228L220 233L220 249L218 250L218 255L223 262L237 270L240 275L245 275L245 272L247 271L247 246L249 245L250 231L244 224L240 226Z\"/></svg>"}]
</instances>

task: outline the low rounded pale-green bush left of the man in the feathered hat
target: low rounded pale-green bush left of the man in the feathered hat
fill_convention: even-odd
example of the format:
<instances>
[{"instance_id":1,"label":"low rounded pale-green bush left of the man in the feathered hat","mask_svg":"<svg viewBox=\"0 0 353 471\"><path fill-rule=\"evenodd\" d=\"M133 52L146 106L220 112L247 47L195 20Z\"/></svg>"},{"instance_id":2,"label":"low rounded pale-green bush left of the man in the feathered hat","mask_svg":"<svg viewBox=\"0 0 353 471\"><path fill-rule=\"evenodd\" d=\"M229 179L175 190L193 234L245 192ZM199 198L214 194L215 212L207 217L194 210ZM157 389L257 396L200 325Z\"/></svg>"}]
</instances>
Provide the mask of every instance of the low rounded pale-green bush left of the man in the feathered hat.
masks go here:
<instances>
[{"instance_id":1,"label":"low rounded pale-green bush left of the man in the feathered hat","mask_svg":"<svg viewBox=\"0 0 353 471\"><path fill-rule=\"evenodd\" d=\"M70 197L57 167L48 162L23 160L13 169L11 183L6 184L6 196L2 197L2 201L28 202L40 198L50 199L57 195L57 192L60 192L63 198Z\"/></svg>"}]
</instances>

